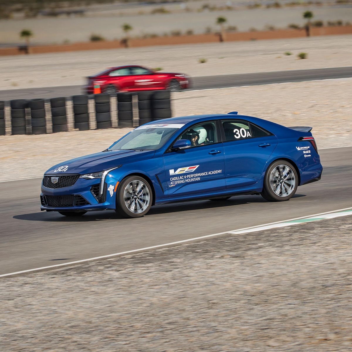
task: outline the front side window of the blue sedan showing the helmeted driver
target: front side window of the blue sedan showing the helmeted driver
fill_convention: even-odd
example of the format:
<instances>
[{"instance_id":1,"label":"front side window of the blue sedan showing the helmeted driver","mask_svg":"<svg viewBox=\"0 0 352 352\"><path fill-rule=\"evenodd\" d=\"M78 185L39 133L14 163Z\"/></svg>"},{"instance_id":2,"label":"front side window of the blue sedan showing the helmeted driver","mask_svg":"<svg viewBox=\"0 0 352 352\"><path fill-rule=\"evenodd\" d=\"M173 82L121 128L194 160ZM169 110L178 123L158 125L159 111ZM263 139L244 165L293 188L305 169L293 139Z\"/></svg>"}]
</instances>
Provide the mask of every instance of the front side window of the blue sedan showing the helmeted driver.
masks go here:
<instances>
[{"instance_id":1,"label":"front side window of the blue sedan showing the helmeted driver","mask_svg":"<svg viewBox=\"0 0 352 352\"><path fill-rule=\"evenodd\" d=\"M206 122L189 128L180 139L191 141L191 147L212 144L217 142L216 128L214 122Z\"/></svg>"}]
</instances>

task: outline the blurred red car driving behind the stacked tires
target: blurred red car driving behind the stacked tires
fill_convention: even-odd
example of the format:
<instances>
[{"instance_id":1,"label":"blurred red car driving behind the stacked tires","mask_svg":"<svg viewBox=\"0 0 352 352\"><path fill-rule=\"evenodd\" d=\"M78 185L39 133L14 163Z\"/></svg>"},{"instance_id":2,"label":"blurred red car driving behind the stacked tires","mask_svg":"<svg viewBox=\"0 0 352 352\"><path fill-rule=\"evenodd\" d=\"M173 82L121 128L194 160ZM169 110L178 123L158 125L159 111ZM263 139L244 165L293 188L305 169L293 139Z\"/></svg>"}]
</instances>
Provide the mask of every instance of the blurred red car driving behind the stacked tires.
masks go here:
<instances>
[{"instance_id":1,"label":"blurred red car driving behind the stacked tires","mask_svg":"<svg viewBox=\"0 0 352 352\"><path fill-rule=\"evenodd\" d=\"M157 72L142 66L118 66L88 77L87 94L99 86L102 93L138 92L169 89L178 92L189 87L189 77L182 73Z\"/></svg>"}]
</instances>

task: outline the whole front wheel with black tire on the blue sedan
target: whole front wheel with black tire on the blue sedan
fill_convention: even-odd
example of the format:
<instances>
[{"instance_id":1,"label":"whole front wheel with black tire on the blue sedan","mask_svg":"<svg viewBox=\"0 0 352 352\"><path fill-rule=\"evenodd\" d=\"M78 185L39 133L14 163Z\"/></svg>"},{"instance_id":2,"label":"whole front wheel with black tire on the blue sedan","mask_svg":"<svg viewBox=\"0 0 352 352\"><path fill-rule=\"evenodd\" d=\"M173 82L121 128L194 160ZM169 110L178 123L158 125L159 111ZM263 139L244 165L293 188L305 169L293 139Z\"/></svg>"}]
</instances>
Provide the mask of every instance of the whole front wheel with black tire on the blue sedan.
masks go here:
<instances>
[{"instance_id":1,"label":"whole front wheel with black tire on the blue sedan","mask_svg":"<svg viewBox=\"0 0 352 352\"><path fill-rule=\"evenodd\" d=\"M129 201L132 201L130 205ZM152 203L152 188L143 177L128 176L119 184L115 211L124 218L141 218L149 212ZM136 206L136 211L133 210L133 205Z\"/></svg>"}]
</instances>

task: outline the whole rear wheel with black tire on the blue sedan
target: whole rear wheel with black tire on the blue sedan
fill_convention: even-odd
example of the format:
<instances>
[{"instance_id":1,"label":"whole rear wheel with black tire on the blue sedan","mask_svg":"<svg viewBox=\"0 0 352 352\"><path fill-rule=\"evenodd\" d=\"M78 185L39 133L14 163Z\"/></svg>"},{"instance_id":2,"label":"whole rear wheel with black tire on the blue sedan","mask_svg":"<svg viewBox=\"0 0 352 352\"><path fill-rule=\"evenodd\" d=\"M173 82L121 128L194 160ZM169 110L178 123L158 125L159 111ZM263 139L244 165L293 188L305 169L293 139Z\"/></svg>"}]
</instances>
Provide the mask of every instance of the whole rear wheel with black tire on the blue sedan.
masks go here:
<instances>
[{"instance_id":1,"label":"whole rear wheel with black tire on the blue sedan","mask_svg":"<svg viewBox=\"0 0 352 352\"><path fill-rule=\"evenodd\" d=\"M294 166L286 160L271 163L265 172L262 197L271 202L282 202L294 196L298 176Z\"/></svg>"}]
</instances>

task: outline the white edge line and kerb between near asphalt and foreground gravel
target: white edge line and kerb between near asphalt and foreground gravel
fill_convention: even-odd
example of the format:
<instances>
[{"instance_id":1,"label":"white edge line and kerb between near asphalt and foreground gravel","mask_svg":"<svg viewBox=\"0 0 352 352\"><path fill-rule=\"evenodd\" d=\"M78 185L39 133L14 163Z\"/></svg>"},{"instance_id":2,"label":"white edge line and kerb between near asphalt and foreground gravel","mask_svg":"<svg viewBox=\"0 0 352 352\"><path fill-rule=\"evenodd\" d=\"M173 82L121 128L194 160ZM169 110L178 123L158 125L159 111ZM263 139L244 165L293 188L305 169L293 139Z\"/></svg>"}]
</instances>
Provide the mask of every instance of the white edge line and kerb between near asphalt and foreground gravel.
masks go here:
<instances>
[{"instance_id":1,"label":"white edge line and kerb between near asphalt and foreground gravel","mask_svg":"<svg viewBox=\"0 0 352 352\"><path fill-rule=\"evenodd\" d=\"M278 228L278 227L284 227L284 226L304 224L304 223L310 222L310 221L333 219L333 218L338 218L339 216L347 216L347 215L352 215L352 207L351 208L333 210L332 212L325 212L325 213L313 214L313 215L308 215L308 216L301 216L300 218L294 218L294 219L288 219L288 220L283 220L283 221L270 222L269 224L263 224L263 225L257 225L257 226L240 228L238 230L230 230L230 231L225 231L225 232L219 232L219 233L214 233L214 234L211 234L211 235L195 237L195 238L189 238L187 240L181 240L181 241L176 241L176 242L159 244L159 245L156 245L156 246L150 246L150 247L144 247L144 248L139 248L139 249L133 249L133 250L130 250L130 251L119 252L119 253L114 253L114 254L108 254L106 256L100 256L100 257L76 260L75 262L62 263L62 264L49 265L49 266L42 266L41 268L34 268L34 269L16 271L16 272L8 273L8 274L2 274L2 275L0 275L0 277L17 275L17 274L24 274L26 272L39 271L39 270L44 270L44 269L58 268L60 266L67 266L67 265L72 265L72 264L77 264L77 263L90 262L92 260L105 259L105 258L109 258L109 257L116 257L116 256L120 256L120 255L123 255L123 254L136 253L136 252L146 251L146 250L150 250L150 249L156 249L156 248L160 248L160 247L173 246L173 245L177 245L177 244L181 244L181 243L186 243L186 242L190 242L190 241L196 241L196 240L210 238L210 237L215 237L215 236L224 235L224 234L236 235L236 234L241 234L241 233L263 231L263 230L268 230L268 229L271 229L271 228ZM318 216L319 216L319 218L318 218Z\"/></svg>"}]
</instances>

